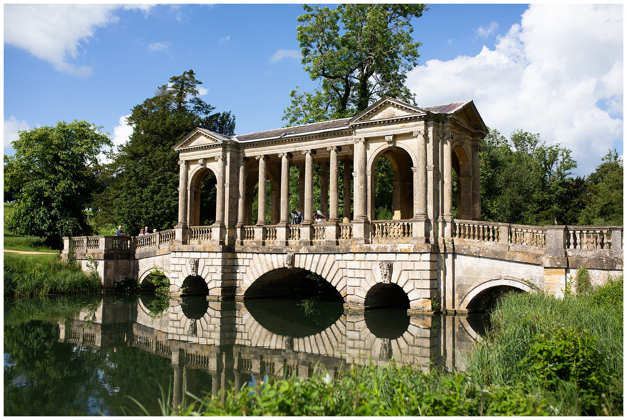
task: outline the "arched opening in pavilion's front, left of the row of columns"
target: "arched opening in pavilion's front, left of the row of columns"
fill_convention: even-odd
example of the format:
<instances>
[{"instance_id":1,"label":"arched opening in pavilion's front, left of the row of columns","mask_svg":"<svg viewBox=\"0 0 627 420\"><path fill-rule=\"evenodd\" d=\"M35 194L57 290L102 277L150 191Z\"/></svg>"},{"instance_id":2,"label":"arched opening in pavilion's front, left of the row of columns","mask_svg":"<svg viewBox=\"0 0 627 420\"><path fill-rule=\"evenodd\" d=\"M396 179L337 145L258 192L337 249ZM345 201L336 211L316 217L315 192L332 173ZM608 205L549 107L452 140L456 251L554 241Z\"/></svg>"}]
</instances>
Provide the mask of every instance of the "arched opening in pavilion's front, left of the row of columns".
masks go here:
<instances>
[{"instance_id":1,"label":"arched opening in pavilion's front, left of the row of columns","mask_svg":"<svg viewBox=\"0 0 627 420\"><path fill-rule=\"evenodd\" d=\"M196 172L190 182L189 226L209 226L216 221L216 175L211 169Z\"/></svg>"}]
</instances>

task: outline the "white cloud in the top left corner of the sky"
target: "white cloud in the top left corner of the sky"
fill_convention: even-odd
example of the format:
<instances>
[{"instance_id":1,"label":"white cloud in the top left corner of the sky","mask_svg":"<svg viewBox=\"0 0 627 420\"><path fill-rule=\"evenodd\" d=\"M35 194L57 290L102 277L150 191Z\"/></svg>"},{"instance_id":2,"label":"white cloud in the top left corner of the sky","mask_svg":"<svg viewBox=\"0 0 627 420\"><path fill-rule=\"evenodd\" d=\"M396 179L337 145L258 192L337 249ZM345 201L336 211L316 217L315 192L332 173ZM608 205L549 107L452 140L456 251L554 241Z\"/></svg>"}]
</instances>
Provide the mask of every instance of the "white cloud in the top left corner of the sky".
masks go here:
<instances>
[{"instance_id":1,"label":"white cloud in the top left corner of the sky","mask_svg":"<svg viewBox=\"0 0 627 420\"><path fill-rule=\"evenodd\" d=\"M115 10L152 6L115 4L5 4L4 43L48 61L58 71L90 76L93 66L71 63L85 52L97 28L116 23Z\"/></svg>"}]
</instances>

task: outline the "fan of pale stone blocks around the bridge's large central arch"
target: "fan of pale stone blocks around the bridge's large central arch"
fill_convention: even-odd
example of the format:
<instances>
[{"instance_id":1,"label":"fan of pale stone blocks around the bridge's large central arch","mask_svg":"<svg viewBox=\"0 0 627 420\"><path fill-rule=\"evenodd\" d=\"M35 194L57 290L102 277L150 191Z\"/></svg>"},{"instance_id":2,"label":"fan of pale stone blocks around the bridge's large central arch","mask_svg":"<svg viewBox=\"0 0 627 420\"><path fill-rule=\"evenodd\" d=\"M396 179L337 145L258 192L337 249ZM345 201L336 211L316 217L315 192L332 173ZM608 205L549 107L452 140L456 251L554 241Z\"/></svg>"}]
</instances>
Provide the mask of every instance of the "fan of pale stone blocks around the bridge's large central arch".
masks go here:
<instances>
[{"instance_id":1,"label":"fan of pale stone blocks around the bridge's large central arch","mask_svg":"<svg viewBox=\"0 0 627 420\"><path fill-rule=\"evenodd\" d=\"M238 261L241 265L247 265L245 276L238 280L238 295L244 295L246 290L261 276L269 271L277 268L288 269L285 264L287 256L277 254L253 254L253 258L249 261ZM294 268L311 271L322 276L332 285L335 290L339 291L342 297L346 296L346 280L343 270L339 268L335 262L335 256L330 254L295 254Z\"/></svg>"}]
</instances>

